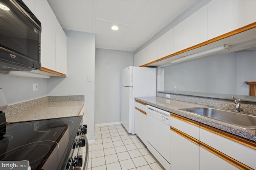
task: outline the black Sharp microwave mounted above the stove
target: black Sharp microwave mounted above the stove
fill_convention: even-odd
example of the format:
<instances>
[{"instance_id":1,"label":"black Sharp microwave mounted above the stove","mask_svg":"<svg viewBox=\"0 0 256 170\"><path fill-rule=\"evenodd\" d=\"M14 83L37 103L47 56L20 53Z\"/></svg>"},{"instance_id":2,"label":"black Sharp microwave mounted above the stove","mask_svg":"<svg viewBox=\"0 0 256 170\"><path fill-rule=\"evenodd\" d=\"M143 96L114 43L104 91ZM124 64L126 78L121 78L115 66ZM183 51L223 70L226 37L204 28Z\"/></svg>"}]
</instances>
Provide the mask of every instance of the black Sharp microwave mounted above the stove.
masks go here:
<instances>
[{"instance_id":1,"label":"black Sharp microwave mounted above the stove","mask_svg":"<svg viewBox=\"0 0 256 170\"><path fill-rule=\"evenodd\" d=\"M22 0L0 0L0 73L41 68L41 30Z\"/></svg>"}]
</instances>

